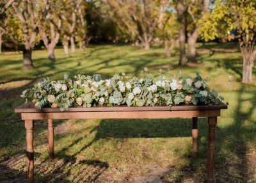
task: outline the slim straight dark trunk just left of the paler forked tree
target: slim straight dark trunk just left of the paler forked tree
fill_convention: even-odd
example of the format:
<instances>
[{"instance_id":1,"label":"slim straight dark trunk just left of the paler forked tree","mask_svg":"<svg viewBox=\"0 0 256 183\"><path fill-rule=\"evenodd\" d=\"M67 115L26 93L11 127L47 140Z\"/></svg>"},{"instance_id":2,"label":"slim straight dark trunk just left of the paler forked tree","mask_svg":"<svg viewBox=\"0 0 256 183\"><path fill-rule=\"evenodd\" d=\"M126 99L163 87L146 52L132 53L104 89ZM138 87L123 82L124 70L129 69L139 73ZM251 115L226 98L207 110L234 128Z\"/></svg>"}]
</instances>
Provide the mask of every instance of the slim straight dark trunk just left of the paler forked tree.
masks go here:
<instances>
[{"instance_id":1,"label":"slim straight dark trunk just left of the paler forked tree","mask_svg":"<svg viewBox=\"0 0 256 183\"><path fill-rule=\"evenodd\" d=\"M183 0L178 1L178 15L179 15L179 43L180 43L180 60L179 65L186 64L186 20L185 20L185 8Z\"/></svg>"}]
</instances>

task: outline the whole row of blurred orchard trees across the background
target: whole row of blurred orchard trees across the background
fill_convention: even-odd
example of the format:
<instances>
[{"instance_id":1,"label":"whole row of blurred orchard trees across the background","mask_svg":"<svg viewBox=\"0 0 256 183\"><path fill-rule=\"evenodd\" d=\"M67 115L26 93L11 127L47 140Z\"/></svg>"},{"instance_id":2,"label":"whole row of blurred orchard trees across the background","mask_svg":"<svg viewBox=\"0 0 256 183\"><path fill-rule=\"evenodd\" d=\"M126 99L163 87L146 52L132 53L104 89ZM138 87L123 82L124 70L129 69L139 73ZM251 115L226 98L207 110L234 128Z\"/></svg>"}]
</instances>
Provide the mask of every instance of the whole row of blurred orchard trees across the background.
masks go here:
<instances>
[{"instance_id":1,"label":"whole row of blurred orchard trees across the background","mask_svg":"<svg viewBox=\"0 0 256 183\"><path fill-rule=\"evenodd\" d=\"M179 65L196 62L196 42L236 38L243 56L243 83L252 81L256 60L255 0L2 0L1 47L22 50L23 68L44 45L55 61L89 42L125 42L148 50L162 43L166 56L179 42ZM233 36L230 36L230 33Z\"/></svg>"}]
</instances>

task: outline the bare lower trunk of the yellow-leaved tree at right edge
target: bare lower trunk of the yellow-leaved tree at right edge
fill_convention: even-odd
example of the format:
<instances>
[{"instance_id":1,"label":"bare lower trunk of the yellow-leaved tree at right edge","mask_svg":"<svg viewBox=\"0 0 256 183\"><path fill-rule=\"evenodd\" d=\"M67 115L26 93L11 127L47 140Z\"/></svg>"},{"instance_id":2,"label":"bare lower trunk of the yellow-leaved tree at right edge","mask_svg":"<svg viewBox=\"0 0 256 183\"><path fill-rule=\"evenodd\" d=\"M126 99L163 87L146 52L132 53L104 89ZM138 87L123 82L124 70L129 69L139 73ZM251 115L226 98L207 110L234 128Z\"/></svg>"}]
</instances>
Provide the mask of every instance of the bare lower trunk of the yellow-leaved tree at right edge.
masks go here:
<instances>
[{"instance_id":1,"label":"bare lower trunk of the yellow-leaved tree at right edge","mask_svg":"<svg viewBox=\"0 0 256 183\"><path fill-rule=\"evenodd\" d=\"M250 56L244 56L243 60L243 83L252 82L253 61Z\"/></svg>"}]
</instances>

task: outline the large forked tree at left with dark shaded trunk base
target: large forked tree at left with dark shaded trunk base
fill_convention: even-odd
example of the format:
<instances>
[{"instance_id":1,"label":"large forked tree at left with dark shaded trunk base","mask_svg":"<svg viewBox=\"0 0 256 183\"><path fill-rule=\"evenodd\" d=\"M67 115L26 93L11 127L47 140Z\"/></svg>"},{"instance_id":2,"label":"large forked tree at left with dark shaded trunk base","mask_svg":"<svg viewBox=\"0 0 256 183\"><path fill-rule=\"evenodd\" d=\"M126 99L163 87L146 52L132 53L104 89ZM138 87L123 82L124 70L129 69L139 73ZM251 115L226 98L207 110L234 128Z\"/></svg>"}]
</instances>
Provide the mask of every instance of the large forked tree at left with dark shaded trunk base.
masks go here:
<instances>
[{"instance_id":1,"label":"large forked tree at left with dark shaded trunk base","mask_svg":"<svg viewBox=\"0 0 256 183\"><path fill-rule=\"evenodd\" d=\"M15 15L20 21L23 41L23 69L33 68L32 51L38 35L38 15L35 9L35 1L21 0L12 3Z\"/></svg>"}]
</instances>

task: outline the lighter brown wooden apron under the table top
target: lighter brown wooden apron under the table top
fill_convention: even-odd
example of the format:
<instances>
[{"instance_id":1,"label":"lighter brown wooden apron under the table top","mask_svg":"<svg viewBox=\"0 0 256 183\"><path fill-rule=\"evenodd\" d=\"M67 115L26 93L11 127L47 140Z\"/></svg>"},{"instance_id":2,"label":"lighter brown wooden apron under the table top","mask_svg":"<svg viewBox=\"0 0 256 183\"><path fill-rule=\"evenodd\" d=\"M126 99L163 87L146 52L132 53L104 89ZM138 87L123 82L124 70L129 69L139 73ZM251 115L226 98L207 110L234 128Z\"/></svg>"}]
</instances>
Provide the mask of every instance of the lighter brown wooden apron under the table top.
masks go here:
<instances>
[{"instance_id":1,"label":"lighter brown wooden apron under the table top","mask_svg":"<svg viewBox=\"0 0 256 183\"><path fill-rule=\"evenodd\" d=\"M217 110L196 111L100 111L100 112L59 112L22 113L22 120L44 119L115 119L115 118L191 118L220 116Z\"/></svg>"}]
</instances>

